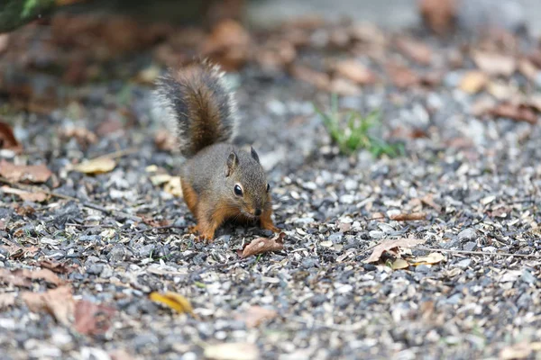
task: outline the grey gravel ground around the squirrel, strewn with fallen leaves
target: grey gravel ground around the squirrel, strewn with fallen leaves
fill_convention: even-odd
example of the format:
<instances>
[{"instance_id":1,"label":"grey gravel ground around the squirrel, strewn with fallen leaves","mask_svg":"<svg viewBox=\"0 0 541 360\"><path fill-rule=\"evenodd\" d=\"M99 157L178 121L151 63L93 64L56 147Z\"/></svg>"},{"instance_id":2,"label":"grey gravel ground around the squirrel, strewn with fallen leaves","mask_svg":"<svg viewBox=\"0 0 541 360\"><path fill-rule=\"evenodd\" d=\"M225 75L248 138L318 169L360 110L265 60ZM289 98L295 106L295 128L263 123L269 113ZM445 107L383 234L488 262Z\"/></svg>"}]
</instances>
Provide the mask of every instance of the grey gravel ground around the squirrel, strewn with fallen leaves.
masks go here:
<instances>
[{"instance_id":1,"label":"grey gravel ground around the squirrel, strewn with fallen leaves","mask_svg":"<svg viewBox=\"0 0 541 360\"><path fill-rule=\"evenodd\" d=\"M423 39L435 53L457 48ZM258 149L287 234L283 251L246 259L237 250L269 234L228 225L214 243L197 242L182 199L152 184L156 172L178 174L182 159L155 144L149 86L84 84L79 102L53 112L10 112L27 150L1 156L46 164L46 185L79 201L0 193L0 270L52 268L75 301L106 310L96 326L103 331L82 335L53 305L48 313L24 301L25 292L54 290L56 279L0 273L0 293L17 295L13 304L0 297L0 358L540 359L541 130L473 116L472 103L486 94L459 91L461 76L452 69L441 85L342 96L344 107L381 108L386 133L425 133L404 138L404 157L374 158L337 154L313 109L328 102L326 92L252 65L231 74L243 121L236 141ZM98 139L61 137L69 127ZM111 172L66 170L123 149ZM390 220L416 211L426 220ZM175 227L156 229L167 224ZM396 270L391 253L365 262L394 238L425 241L402 257L444 259ZM195 316L149 299L164 291L188 299Z\"/></svg>"}]
</instances>

